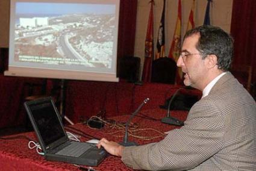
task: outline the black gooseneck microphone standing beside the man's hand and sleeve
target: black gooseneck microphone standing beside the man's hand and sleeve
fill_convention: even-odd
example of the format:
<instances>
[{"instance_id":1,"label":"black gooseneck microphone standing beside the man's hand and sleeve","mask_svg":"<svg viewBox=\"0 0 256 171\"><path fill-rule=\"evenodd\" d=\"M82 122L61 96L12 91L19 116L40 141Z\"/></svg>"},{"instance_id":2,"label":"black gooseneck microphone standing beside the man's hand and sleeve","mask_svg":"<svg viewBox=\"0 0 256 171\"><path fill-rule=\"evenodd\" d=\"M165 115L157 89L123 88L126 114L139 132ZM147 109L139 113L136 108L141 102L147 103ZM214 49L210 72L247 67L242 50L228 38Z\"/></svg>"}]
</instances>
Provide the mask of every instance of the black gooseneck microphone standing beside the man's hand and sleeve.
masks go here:
<instances>
[{"instance_id":1,"label":"black gooseneck microphone standing beside the man's hand and sleeve","mask_svg":"<svg viewBox=\"0 0 256 171\"><path fill-rule=\"evenodd\" d=\"M125 137L123 137L123 142L122 142L122 143L119 143L120 145L122 145L122 146L137 146L137 143L128 141L128 126L130 125L131 119L133 119L133 117L138 113L138 111L140 110L140 108L142 108L143 105L145 105L148 101L149 101L149 98L146 98L146 99L142 102L142 104L140 104L140 106L137 108L137 110L134 111L133 114L131 114L131 117L130 117L129 120L126 122L126 125L125 125Z\"/></svg>"}]
</instances>

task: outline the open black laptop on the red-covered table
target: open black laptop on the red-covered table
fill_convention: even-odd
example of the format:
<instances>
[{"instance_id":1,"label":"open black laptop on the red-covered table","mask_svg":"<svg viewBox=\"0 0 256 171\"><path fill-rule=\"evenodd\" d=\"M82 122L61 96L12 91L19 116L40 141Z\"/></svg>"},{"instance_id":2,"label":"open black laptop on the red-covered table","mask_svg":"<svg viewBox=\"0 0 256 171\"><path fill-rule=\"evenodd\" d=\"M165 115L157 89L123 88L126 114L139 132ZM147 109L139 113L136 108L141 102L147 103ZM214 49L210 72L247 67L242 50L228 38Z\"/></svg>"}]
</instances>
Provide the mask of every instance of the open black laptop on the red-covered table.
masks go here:
<instances>
[{"instance_id":1,"label":"open black laptop on the red-covered table","mask_svg":"<svg viewBox=\"0 0 256 171\"><path fill-rule=\"evenodd\" d=\"M107 152L95 144L69 140L51 97L24 103L46 160L98 166Z\"/></svg>"}]
</instances>

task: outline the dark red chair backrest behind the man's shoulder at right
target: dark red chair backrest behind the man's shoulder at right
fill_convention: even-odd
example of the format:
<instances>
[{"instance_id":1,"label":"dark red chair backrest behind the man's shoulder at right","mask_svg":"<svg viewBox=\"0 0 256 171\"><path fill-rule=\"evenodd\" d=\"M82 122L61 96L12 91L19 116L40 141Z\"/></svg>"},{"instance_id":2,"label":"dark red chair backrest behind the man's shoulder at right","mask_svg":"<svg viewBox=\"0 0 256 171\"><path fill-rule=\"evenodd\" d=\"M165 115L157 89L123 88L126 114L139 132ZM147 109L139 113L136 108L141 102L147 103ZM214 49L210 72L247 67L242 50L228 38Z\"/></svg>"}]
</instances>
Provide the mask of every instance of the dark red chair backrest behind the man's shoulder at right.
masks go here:
<instances>
[{"instance_id":1,"label":"dark red chair backrest behind the man's shoulder at right","mask_svg":"<svg viewBox=\"0 0 256 171\"><path fill-rule=\"evenodd\" d=\"M233 64L230 71L237 78L237 80L241 84L243 84L245 89L250 92L252 81L252 67L243 64Z\"/></svg>"}]
</instances>

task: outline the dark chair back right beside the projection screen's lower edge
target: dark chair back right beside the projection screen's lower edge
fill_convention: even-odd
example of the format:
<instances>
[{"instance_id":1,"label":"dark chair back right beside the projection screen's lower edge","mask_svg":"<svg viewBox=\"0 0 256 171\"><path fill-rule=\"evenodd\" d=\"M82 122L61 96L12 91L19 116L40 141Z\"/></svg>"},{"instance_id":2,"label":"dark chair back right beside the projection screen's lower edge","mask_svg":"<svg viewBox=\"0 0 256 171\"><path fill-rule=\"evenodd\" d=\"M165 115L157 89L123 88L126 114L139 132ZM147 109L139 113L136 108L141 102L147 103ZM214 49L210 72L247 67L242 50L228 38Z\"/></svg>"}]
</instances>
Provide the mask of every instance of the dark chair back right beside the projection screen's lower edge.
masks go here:
<instances>
[{"instance_id":1,"label":"dark chair back right beside the projection screen's lower edge","mask_svg":"<svg viewBox=\"0 0 256 171\"><path fill-rule=\"evenodd\" d=\"M117 76L126 79L128 82L139 81L140 75L140 58L139 57L122 57L119 58L117 67Z\"/></svg>"}]
</instances>

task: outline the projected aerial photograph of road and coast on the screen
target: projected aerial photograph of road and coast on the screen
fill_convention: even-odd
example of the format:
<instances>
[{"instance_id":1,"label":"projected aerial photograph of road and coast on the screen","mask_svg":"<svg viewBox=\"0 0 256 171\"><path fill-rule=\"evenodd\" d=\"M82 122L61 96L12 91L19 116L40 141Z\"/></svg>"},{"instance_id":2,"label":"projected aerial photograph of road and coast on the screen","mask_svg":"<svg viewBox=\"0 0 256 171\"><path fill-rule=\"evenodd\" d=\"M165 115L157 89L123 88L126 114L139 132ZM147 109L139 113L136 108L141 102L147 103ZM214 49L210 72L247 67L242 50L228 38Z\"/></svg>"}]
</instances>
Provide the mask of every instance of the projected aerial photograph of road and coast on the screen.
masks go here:
<instances>
[{"instance_id":1,"label":"projected aerial photograph of road and coast on the screen","mask_svg":"<svg viewBox=\"0 0 256 171\"><path fill-rule=\"evenodd\" d=\"M14 61L111 68L114 5L19 2Z\"/></svg>"}]
</instances>

